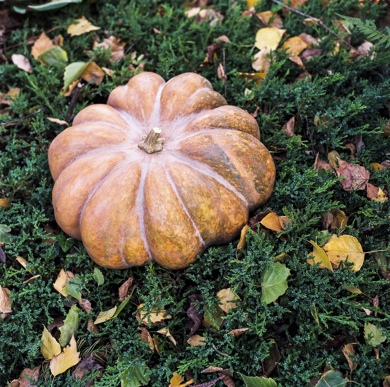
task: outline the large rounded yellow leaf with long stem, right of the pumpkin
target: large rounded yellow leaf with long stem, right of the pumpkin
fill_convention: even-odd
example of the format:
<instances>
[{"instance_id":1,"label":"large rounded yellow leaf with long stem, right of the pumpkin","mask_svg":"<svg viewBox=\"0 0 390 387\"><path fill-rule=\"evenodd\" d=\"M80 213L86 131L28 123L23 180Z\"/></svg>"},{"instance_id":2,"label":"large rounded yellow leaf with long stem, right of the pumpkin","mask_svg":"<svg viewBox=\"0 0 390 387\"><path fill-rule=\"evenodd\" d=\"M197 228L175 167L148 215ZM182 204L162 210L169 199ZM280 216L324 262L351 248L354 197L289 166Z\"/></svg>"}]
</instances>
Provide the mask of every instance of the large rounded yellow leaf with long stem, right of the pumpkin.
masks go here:
<instances>
[{"instance_id":1,"label":"large rounded yellow leaf with long stem, right of the pumpkin","mask_svg":"<svg viewBox=\"0 0 390 387\"><path fill-rule=\"evenodd\" d=\"M332 265L339 266L341 261L353 262L351 270L357 272L363 265L364 253L362 245L351 235L342 235L339 238L332 238L324 245L324 251L328 255Z\"/></svg>"}]
</instances>

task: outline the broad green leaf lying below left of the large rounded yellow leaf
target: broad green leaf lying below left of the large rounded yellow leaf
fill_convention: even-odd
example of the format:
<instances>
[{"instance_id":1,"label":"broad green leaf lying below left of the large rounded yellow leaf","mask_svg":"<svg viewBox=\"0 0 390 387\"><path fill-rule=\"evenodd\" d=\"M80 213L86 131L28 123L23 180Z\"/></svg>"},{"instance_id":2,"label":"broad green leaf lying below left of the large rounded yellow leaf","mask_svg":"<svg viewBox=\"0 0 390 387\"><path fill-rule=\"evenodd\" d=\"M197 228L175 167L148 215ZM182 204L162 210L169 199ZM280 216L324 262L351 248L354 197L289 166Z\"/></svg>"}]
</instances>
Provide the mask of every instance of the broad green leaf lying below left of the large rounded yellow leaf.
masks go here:
<instances>
[{"instance_id":1,"label":"broad green leaf lying below left of the large rounded yellow leaf","mask_svg":"<svg viewBox=\"0 0 390 387\"><path fill-rule=\"evenodd\" d=\"M289 275L290 270L282 263L267 263L261 272L261 301L270 304L284 294Z\"/></svg>"}]
</instances>

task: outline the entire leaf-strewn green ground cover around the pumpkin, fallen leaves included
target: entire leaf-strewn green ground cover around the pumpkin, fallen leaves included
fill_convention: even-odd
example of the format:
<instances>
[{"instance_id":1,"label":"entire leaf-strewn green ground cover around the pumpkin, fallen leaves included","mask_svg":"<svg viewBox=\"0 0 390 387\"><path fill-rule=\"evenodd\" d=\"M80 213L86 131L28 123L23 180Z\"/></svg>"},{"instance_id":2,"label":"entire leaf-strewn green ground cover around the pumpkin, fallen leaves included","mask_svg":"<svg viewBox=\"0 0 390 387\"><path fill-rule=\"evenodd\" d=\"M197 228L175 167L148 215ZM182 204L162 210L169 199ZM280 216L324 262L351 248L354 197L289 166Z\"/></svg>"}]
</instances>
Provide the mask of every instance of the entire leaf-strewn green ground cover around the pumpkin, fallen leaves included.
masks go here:
<instances>
[{"instance_id":1,"label":"entire leaf-strewn green ground cover around the pumpkin, fallen leaves included","mask_svg":"<svg viewBox=\"0 0 390 387\"><path fill-rule=\"evenodd\" d=\"M2 3L2 385L389 385L388 3L205 3ZM54 219L50 142L140 71L206 77L277 169L242 238L184 270L99 268Z\"/></svg>"}]
</instances>

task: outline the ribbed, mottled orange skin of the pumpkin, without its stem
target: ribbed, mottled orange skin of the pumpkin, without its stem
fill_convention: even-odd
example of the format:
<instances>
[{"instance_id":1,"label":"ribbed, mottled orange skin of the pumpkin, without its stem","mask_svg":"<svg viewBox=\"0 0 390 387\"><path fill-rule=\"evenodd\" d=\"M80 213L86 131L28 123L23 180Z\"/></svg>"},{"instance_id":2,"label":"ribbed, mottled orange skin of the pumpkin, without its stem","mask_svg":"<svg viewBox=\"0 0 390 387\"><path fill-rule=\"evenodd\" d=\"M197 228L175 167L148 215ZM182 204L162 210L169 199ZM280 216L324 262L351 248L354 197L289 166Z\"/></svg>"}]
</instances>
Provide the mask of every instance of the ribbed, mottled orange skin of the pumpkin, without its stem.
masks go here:
<instances>
[{"instance_id":1,"label":"ribbed, mottled orange skin of the pumpkin, without its stem","mask_svg":"<svg viewBox=\"0 0 390 387\"><path fill-rule=\"evenodd\" d=\"M147 154L137 145L152 127L165 141ZM106 268L185 268L270 197L275 165L259 138L202 76L138 74L51 143L57 223Z\"/></svg>"}]
</instances>

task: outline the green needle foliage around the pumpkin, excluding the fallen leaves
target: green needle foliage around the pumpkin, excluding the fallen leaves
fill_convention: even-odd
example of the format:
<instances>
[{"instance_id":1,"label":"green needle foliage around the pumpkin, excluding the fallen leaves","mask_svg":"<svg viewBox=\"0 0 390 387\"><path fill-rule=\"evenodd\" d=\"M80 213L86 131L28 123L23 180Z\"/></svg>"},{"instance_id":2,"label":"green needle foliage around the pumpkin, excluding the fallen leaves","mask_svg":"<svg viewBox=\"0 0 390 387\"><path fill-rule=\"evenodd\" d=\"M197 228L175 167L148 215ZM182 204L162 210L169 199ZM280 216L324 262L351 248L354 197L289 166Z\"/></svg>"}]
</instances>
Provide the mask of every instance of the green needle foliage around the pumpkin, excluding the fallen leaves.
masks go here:
<instances>
[{"instance_id":1,"label":"green needle foliage around the pumpkin, excluding the fallen leaves","mask_svg":"<svg viewBox=\"0 0 390 387\"><path fill-rule=\"evenodd\" d=\"M332 233L355 236L364 251L390 247L390 200L370 201L365 190L346 192L332 172L313 168L317 153L325 160L333 149L347 160L346 144L361 137L364 145L355 154L356 162L370 171L370 183L390 185L390 169L376 172L369 165L389 160L390 141L383 137L383 131L389 121L390 52L372 36L374 57L351 60L349 48L342 43L335 52L338 42L332 34L320 26L305 26L302 16L292 12L284 14L273 2L262 0L256 5L257 12L279 11L288 36L310 34L319 39L317 48L322 52L305 62L311 79L296 80L303 70L288 60L285 51L275 51L268 75L256 86L236 73L252 72L259 19L241 16L246 9L244 0L212 0L208 5L224 16L221 22L210 25L207 20L197 23L187 18L184 12L188 4L178 0L96 0L70 4L60 11L29 11L20 16L21 25L7 39L7 47L11 48L4 51L8 64L1 66L1 91L21 88L20 95L11 101L13 119L61 97L63 67L46 66L35 60L27 44L28 37L57 27L47 34L51 39L58 34L64 36L62 48L67 52L69 64L94 58L99 66L113 71L113 76L105 76L99 86L90 83L81 89L74 114L92 103L105 103L113 88L124 85L140 71L134 70L140 61L145 62L146 71L154 71L165 80L195 71L223 95L225 85L217 76L218 65L223 63L222 48L216 52L217 58L211 66L204 66L204 59L207 47L217 37L226 35L231 41L224 44L227 102L250 113L259 108L256 120L262 142L275 158L274 194L259 210L270 208L278 215L287 216L291 224L286 226L283 238L261 230L248 233L246 249L239 258L236 257L238 241L234 241L210 247L185 270L165 270L151 263L126 270L99 268L97 272L82 243L58 228L51 203L53 180L47 151L53 138L64 128L46 117L65 120L71 97L49 105L18 124L0 127L1 194L10 201L10 208L0 208L0 238L5 242L2 249L6 256L5 263L0 263L0 282L3 288L9 289L12 299L12 314L0 320L1 385L18 378L24 368L40 365L38 387L82 386L89 378L74 380L71 373L75 367L72 367L53 380L40 352L42 324L47 327L58 316L69 315L71 306L77 303L71 295L65 299L53 288L61 269L76 275L69 282L73 295L89 300L92 306L90 312L80 309L80 325L74 334L80 357L84 359L92 352L104 367L96 386L114 387L121 382L133 385L138 378L138 385L166 387L174 372L179 375L187 372L197 382L204 383L218 374L200 371L215 366L230 369L236 385L243 387L240 374L264 375L264 364L273 343L277 344L281 356L271 375L278 386L307 386L310 380L319 380L326 366L339 370L343 378L347 376L361 386L379 386L388 375L389 281L378 274L380 260L369 253L358 272L351 271L351 264L346 263L332 273L318 265L308 265L306 259L312 251L307 241L316 238L318 241L318 233L323 231L320 218L333 208L345 211L349 220L345 228ZM365 28L373 31L375 26L378 34L382 34L379 21L386 14L384 4L361 4L358 0L326 4L322 0L308 0L300 9L321 18L336 32L337 26L332 21L338 18L337 14L353 14L370 20L368 24L364 22ZM101 29L70 37L67 25L82 15ZM367 31L360 22L355 24L356 27L349 26L348 39L357 47L367 39ZM156 34L153 28L161 33ZM95 34L100 41L115 36L126 43L125 50L130 50L119 62L110 62L109 50L92 49ZM133 51L137 53L132 54ZM12 64L12 54L25 55L32 65L32 73ZM246 88L251 90L250 98ZM11 121L7 112L1 113L0 122ZM292 116L295 134L286 138L281 128ZM289 270L290 275L286 272L285 276L287 289L274 302L261 302L261 273L275 268L276 257L282 253L286 253L284 260L277 265L285 265ZM383 262L390 261L388 250L380 254ZM16 256L27 260L27 266L23 267ZM33 275L40 276L25 282ZM126 307L116 318L100 323L99 332L87 329L87 322L96 320L99 312L119 305L119 286L129 277L133 277L133 285L137 287ZM351 293L347 290L351 286L362 293ZM190 296L201 295L195 307L210 316L216 314L216 294L226 288L232 288L240 297L238 307L223 317L222 326L200 327L197 334L204 337L206 345L190 346L187 344L190 329L186 327L191 323L186 314ZM146 327L158 340L159 353L152 352L140 339L141 323L136 316L140 304L145 304L144 310L149 312L164 308L172 316ZM375 348L365 339L365 327L371 327L369 324L380 332ZM157 333L163 327L169 329L176 346L167 336ZM228 334L238 328L249 329L239 336ZM353 358L356 367L352 372L341 351L346 343L357 343ZM96 376L94 371L91 378ZM222 381L216 384L222 385Z\"/></svg>"}]
</instances>

